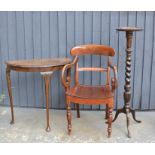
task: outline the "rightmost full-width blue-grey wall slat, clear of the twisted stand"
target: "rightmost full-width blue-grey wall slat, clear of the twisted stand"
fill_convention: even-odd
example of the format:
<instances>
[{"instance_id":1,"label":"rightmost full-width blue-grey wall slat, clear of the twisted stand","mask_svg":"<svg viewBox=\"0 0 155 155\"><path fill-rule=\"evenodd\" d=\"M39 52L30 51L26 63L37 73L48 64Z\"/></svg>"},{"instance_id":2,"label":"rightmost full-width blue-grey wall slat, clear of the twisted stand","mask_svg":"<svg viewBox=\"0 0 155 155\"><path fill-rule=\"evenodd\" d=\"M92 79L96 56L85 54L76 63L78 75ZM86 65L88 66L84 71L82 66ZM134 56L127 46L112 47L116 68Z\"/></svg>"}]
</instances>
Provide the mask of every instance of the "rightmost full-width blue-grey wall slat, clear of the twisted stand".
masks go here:
<instances>
[{"instance_id":1,"label":"rightmost full-width blue-grey wall slat, clear of the twisted stand","mask_svg":"<svg viewBox=\"0 0 155 155\"><path fill-rule=\"evenodd\" d=\"M152 58L152 39L153 39L153 12L146 12L145 21L145 43L143 61L143 81L142 81L142 109L149 108L150 101L150 80L151 80L151 58Z\"/></svg>"}]
</instances>

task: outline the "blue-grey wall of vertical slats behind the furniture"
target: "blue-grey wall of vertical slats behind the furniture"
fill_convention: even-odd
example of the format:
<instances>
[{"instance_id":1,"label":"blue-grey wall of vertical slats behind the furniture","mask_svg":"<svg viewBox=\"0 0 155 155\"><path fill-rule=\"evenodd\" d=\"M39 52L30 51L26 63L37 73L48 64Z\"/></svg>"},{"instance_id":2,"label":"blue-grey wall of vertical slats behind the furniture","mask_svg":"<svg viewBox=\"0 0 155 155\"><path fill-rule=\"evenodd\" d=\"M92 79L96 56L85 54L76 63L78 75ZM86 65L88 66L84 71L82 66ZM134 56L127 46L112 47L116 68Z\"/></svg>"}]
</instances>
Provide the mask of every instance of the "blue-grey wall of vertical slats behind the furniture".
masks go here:
<instances>
[{"instance_id":1,"label":"blue-grey wall of vertical slats behind the furniture","mask_svg":"<svg viewBox=\"0 0 155 155\"><path fill-rule=\"evenodd\" d=\"M79 44L110 45L116 50L113 59L118 67L119 87L116 106L123 106L125 75L125 34L116 33L119 26L139 26L144 31L134 34L132 55L132 106L155 109L155 13L154 12L0 12L0 94L8 105L5 80L6 60L53 58L69 55ZM106 58L84 57L81 65L105 65ZM45 107L44 85L39 73L12 72L14 104ZM64 89L60 73L55 72L51 84L52 108L65 108ZM83 73L80 81L99 84L104 75ZM134 87L133 87L134 86ZM84 109L104 109L102 106L81 106Z\"/></svg>"}]
</instances>

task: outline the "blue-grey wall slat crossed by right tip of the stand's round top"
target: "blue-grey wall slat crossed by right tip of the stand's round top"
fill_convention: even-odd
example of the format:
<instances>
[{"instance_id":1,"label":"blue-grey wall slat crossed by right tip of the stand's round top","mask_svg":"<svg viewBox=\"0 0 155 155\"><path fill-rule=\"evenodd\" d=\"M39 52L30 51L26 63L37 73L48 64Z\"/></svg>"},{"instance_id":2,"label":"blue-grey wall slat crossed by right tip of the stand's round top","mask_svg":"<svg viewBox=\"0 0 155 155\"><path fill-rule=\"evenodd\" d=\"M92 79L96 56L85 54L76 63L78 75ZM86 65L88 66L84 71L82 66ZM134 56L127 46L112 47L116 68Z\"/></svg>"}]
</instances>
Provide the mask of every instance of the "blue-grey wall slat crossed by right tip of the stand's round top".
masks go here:
<instances>
[{"instance_id":1,"label":"blue-grey wall slat crossed by right tip of the stand's round top","mask_svg":"<svg viewBox=\"0 0 155 155\"><path fill-rule=\"evenodd\" d=\"M137 27L144 28L145 12L137 12ZM134 87L133 87L133 107L140 108L141 102L141 83L142 83L142 66L143 66L143 53L144 53L144 30L136 32L135 38L135 67L134 67Z\"/></svg>"}]
</instances>

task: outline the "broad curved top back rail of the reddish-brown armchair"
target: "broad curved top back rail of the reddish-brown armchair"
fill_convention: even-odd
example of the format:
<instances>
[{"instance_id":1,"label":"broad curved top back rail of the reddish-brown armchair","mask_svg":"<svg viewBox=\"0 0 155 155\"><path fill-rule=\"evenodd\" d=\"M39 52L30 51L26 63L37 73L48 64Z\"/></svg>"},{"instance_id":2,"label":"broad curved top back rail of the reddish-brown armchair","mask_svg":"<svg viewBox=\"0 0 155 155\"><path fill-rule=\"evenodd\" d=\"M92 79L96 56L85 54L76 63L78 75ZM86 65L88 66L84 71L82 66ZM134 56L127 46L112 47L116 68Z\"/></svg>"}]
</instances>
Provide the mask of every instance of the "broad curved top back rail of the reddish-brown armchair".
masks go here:
<instances>
[{"instance_id":1,"label":"broad curved top back rail of the reddish-brown armchair","mask_svg":"<svg viewBox=\"0 0 155 155\"><path fill-rule=\"evenodd\" d=\"M96 45L96 44L88 44L88 45L80 45L73 47L70 51L72 56L76 55L104 55L104 56L114 56L115 50L106 45Z\"/></svg>"}]
</instances>

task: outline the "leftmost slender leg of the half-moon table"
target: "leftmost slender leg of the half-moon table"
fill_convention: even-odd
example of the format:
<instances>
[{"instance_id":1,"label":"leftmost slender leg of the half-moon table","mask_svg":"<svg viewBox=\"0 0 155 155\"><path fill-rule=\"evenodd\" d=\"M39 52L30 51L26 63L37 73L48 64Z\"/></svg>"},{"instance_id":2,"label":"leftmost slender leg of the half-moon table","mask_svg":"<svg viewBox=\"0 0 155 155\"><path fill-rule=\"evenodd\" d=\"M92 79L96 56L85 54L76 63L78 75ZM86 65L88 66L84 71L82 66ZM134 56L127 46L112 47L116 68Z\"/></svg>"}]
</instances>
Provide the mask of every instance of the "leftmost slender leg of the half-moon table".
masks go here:
<instances>
[{"instance_id":1,"label":"leftmost slender leg of the half-moon table","mask_svg":"<svg viewBox=\"0 0 155 155\"><path fill-rule=\"evenodd\" d=\"M6 68L6 81L8 87L8 93L10 98L10 107L11 107L11 122L10 124L14 124L14 110L13 110L13 97L12 97L12 89L11 89L11 78L10 78L10 68Z\"/></svg>"}]
</instances>

